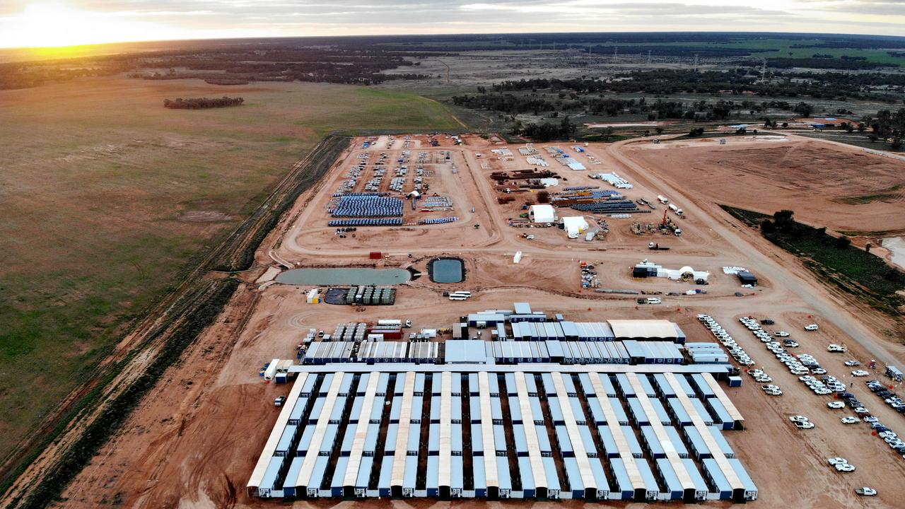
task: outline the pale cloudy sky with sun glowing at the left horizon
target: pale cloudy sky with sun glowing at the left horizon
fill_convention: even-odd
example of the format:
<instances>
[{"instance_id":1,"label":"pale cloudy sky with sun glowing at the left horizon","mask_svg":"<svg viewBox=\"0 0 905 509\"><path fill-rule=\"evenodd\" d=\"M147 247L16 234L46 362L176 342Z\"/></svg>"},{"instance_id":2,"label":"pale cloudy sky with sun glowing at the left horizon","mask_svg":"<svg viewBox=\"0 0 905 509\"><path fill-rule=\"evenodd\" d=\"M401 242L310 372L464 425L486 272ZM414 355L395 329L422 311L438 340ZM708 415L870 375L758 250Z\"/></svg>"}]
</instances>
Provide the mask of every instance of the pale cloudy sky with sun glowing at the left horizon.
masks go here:
<instances>
[{"instance_id":1,"label":"pale cloudy sky with sun glowing at the left horizon","mask_svg":"<svg viewBox=\"0 0 905 509\"><path fill-rule=\"evenodd\" d=\"M0 0L0 48L372 34L905 34L905 0Z\"/></svg>"}]
</instances>

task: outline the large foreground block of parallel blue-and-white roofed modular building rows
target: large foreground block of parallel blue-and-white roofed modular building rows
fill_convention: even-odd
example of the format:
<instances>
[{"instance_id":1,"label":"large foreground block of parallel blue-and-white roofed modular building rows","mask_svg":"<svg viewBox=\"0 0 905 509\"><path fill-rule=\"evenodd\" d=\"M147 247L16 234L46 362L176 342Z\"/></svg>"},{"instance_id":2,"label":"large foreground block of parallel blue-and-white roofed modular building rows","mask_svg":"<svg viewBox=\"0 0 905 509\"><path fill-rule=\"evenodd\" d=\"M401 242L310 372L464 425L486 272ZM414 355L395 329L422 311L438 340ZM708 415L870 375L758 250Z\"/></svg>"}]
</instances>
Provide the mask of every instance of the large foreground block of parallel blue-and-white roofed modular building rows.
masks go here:
<instances>
[{"instance_id":1,"label":"large foreground block of parallel blue-and-white roofed modular building rows","mask_svg":"<svg viewBox=\"0 0 905 509\"><path fill-rule=\"evenodd\" d=\"M757 498L722 367L296 365L262 498Z\"/></svg>"}]
</instances>

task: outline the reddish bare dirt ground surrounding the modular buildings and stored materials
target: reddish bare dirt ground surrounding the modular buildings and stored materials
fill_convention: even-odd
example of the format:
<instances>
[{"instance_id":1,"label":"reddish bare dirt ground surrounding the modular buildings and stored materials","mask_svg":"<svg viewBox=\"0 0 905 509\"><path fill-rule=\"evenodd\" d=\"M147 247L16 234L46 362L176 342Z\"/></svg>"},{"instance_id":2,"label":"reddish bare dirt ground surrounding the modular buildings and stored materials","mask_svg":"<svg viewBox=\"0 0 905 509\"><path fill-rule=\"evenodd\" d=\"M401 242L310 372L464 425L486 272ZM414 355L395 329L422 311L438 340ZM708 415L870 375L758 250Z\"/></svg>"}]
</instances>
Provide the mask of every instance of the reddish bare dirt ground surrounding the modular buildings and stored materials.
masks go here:
<instances>
[{"instance_id":1,"label":"reddish bare dirt ground surrounding the modular buildings and stored materials","mask_svg":"<svg viewBox=\"0 0 905 509\"><path fill-rule=\"evenodd\" d=\"M390 160L402 150L401 140L396 139L387 147L385 139L377 140L371 149L371 163L381 152L391 155ZM778 330L791 331L801 343L796 353L812 353L824 367L840 379L846 379L851 369L843 366L843 360L855 358L866 362L870 359L901 363L905 349L885 340L877 329L879 319L868 315L855 318L852 306L830 293L824 286L812 281L789 255L776 251L772 245L733 222L729 216L713 205L719 192L734 189L733 202L758 210L772 211L773 202L751 206L754 202L798 199L791 184L777 185L777 192L786 198L764 197L767 194L766 171L777 154L786 157L795 152L784 147L794 146L810 154L828 153L819 141L801 142L787 139L776 142L739 143L734 159L738 168L719 173L716 168L704 165L701 160L726 158L712 155L718 150L716 142L710 145L685 149L664 148L648 150L650 142L620 142L614 145L591 145L586 153L569 149L572 156L585 163L590 171L572 171L558 165L538 146L550 162L550 169L567 178L561 187L600 185L599 180L588 178L598 171L616 171L631 181L635 187L626 192L632 199L653 199L658 194L671 198L685 210L686 219L680 222L683 235L633 235L633 221L655 222L662 215L662 206L650 214L638 214L633 218L616 219L591 217L593 222L605 221L610 233L605 241L586 243L584 239L568 240L557 228L522 229L507 226L507 219L522 212L521 205L536 199L531 193L512 195L516 202L505 206L497 203L502 196L489 178L492 171L529 168L519 155L518 147L511 146L513 160L502 160L491 154L494 148L478 137L466 137L464 147L455 147L450 139L441 139L442 147L431 148L424 137L415 136L413 162L419 151L432 154L425 169L433 176L430 193L452 197L453 210L447 213L416 213L407 204L405 221L424 216L459 216L458 222L440 226L406 226L403 228L358 228L355 238L339 238L334 229L326 226L326 205L338 187L348 167L356 162L363 151L362 139L341 158L340 164L322 180L318 187L300 197L297 205L286 215L281 225L265 240L258 253L258 262L273 264L285 260L301 267L310 266L414 266L424 269L426 258L443 253L460 255L467 264L468 276L464 283L443 285L431 283L421 277L398 287L395 307L354 308L328 304L305 303L305 291L309 287L271 284L265 289L256 285L243 285L233 298L224 316L200 341L186 351L179 366L170 370L158 387L136 410L118 437L100 452L92 464L65 490L66 507L97 507L105 502L121 499L124 506L142 508L163 507L276 507L287 506L280 502L262 502L245 495L245 483L251 474L263 443L270 434L278 412L272 400L289 392L287 386L267 385L258 376L264 362L273 358L292 358L294 347L309 328L332 331L338 322L376 321L378 318L408 318L413 328L445 327L454 317L467 312L491 308L510 307L511 303L530 302L545 312L563 312L574 320L604 318L664 318L680 323L689 334L689 341L709 341L710 335L695 318L699 312L715 317L729 329L748 353L763 363L763 369L773 377L785 396L769 399L751 379L746 377L740 389L729 389L729 396L736 402L748 421L748 429L727 433L731 445L741 457L748 472L759 488L762 507L900 507L905 499L905 462L891 453L877 437L872 437L869 427L861 423L846 426L839 422L848 410L830 410L825 403L830 399L815 396L785 370L763 348L761 343L738 323L738 317L753 315L770 317L777 322ZM733 143L736 143L733 140ZM826 144L826 147L833 147ZM735 149L735 145L729 148ZM723 149L723 148L719 148ZM441 151L452 151L451 162L446 162ZM765 155L760 150L766 150ZM836 149L832 149L836 150ZM836 150L838 151L838 150ZM481 153L481 158L477 157ZM688 155L686 155L688 154ZM602 164L595 165L587 158L594 156ZM856 182L862 178L865 164L859 154L840 153L838 158L851 156L852 164L837 164L834 171L838 178ZM826 156L829 157L829 156ZM747 162L751 159L752 162ZM806 159L796 159L805 167ZM847 160L847 159L846 159ZM663 164L668 161L669 164ZM844 161L843 161L844 162ZM452 172L452 165L457 172ZM713 164L713 163L711 163ZM486 168L482 168L486 165ZM691 167L707 168L711 181L704 185L700 178L687 178ZM752 168L750 170L744 168ZM389 165L394 168L394 165ZM761 169L757 169L761 168ZM872 167L873 168L873 167ZM744 185L727 178L725 171L736 175L750 171ZM361 181L367 181L363 175ZM697 170L695 170L697 171ZM704 171L704 170L701 170ZM829 169L821 169L826 175ZM872 175L876 183L852 184L863 188L887 185L891 168L877 163ZM410 173L411 175L411 173ZM387 171L384 185L392 177ZM738 177L741 178L741 177ZM759 179L759 180L758 180ZM801 178L785 178L795 182ZM808 177L808 182L817 178ZM749 184L748 181L751 183ZM757 184L757 182L760 182ZM411 185L411 178L408 180ZM359 186L361 182L359 182ZM761 192L739 192L746 186L757 187ZM786 187L782 187L786 186ZM836 188L842 184L836 184ZM862 188L859 187L859 188ZM751 187L748 187L751 188ZM408 190L408 188L406 188ZM551 190L556 190L554 187ZM772 191L771 191L772 192ZM861 192L861 191L857 191ZM710 196L713 193L714 196ZM805 193L804 196L807 196ZM796 212L816 214L820 206L833 206L824 211L826 216L843 225L847 214L860 214L863 208L852 213L845 206L830 201L815 200L795 203ZM748 201L746 201L748 200ZM804 201L804 200L803 200ZM823 204L823 205L821 205ZM476 212L472 214L472 206ZM876 214L881 214L881 206ZM863 207L863 206L859 206ZM868 209L868 210L873 210ZM882 209L887 210L889 209ZM810 212L808 212L810 211ZM563 212L560 210L560 212ZM889 226L905 227L901 207L898 214L889 214L882 220ZM824 216L824 217L826 217ZM478 224L480 227L475 228ZM878 226L879 227L879 226ZM534 240L522 238L522 234L536 235ZM670 245L669 252L648 251L648 242ZM278 247L277 247L278 246ZM271 250L273 251L271 256ZM382 251L389 255L380 261L368 260L369 251ZM512 255L522 251L520 264L512 264ZM409 257L411 254L411 257ZM693 286L688 283L664 280L633 280L630 267L643 258L667 267L691 265L698 270L710 271L708 293L699 295L663 296L659 306L638 306L633 296L594 293L581 289L578 262L596 264L601 274L602 286L626 288L648 292L684 292ZM723 265L746 266L761 279L753 290L738 287L731 276L722 274ZM261 269L249 274L253 282L263 274ZM271 274L273 271L271 270ZM270 275L270 274L269 274ZM466 302L450 302L443 298L443 291L468 289L474 297ZM737 297L736 292L745 296ZM865 318L866 317L866 318ZM820 324L820 331L805 332L803 325ZM831 342L844 343L849 353L844 357L828 353L825 346ZM881 404L859 380L854 381L855 392L881 421L900 432L905 432L905 418ZM799 431L792 427L787 416L804 414L811 418L816 428ZM857 471L853 474L837 474L826 459L844 456ZM854 488L870 485L880 495L865 500L854 495ZM310 506L375 506L383 502L336 503L334 501L296 502L295 507ZM431 500L391 501L399 507L449 507L451 503ZM498 503L465 501L457 506L488 507ZM506 504L521 504L510 501ZM529 503L543 507L552 504ZM578 505L577 502L564 503ZM556 504L561 506L563 504ZM641 504L630 504L632 507ZM675 504L654 504L675 506ZM728 504L707 503L706 506L727 507ZM625 504L618 504L625 506Z\"/></svg>"}]
</instances>

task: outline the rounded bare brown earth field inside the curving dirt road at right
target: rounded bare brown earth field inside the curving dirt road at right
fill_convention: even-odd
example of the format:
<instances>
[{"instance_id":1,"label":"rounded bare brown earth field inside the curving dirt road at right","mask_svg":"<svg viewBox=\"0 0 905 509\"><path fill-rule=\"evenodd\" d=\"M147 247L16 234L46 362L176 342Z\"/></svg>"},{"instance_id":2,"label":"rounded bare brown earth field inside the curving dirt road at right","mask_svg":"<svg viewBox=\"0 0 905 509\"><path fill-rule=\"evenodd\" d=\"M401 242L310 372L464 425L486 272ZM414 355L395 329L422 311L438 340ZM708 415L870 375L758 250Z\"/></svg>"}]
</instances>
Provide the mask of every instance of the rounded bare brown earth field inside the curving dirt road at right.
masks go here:
<instances>
[{"instance_id":1,"label":"rounded bare brown earth field inside the curving dirt road at right","mask_svg":"<svg viewBox=\"0 0 905 509\"><path fill-rule=\"evenodd\" d=\"M635 144L630 155L718 203L765 214L791 208L836 231L905 230L902 160L793 135L726 139ZM858 197L867 203L853 204Z\"/></svg>"}]
</instances>

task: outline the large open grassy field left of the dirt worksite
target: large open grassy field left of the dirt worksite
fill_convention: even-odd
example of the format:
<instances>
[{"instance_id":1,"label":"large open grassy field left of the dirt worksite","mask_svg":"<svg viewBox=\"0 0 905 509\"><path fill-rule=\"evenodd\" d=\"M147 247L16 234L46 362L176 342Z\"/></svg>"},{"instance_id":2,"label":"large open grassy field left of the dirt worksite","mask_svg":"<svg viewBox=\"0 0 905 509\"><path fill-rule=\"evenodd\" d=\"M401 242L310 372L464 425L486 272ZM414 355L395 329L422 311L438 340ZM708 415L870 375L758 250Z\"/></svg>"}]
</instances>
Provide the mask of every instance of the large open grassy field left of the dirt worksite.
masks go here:
<instances>
[{"instance_id":1,"label":"large open grassy field left of the dirt worksite","mask_svg":"<svg viewBox=\"0 0 905 509\"><path fill-rule=\"evenodd\" d=\"M162 106L221 95L245 104ZM119 78L0 91L0 118L0 458L326 133L462 129L405 91Z\"/></svg>"}]
</instances>

